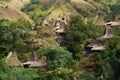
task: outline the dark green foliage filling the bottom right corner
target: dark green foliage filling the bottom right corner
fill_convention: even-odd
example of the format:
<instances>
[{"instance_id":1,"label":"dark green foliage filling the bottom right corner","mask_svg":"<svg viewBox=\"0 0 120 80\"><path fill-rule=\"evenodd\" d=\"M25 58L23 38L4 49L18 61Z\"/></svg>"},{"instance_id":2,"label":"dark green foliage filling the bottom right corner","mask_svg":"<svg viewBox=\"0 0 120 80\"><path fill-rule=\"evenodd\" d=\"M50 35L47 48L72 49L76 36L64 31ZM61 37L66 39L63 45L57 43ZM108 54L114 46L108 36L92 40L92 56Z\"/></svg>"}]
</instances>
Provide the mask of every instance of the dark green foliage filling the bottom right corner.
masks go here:
<instances>
[{"instance_id":1,"label":"dark green foliage filling the bottom right corner","mask_svg":"<svg viewBox=\"0 0 120 80\"><path fill-rule=\"evenodd\" d=\"M111 57L111 51L97 53L99 60L102 64L102 73L100 74L101 80L118 80L120 77L120 62Z\"/></svg>"}]
</instances>

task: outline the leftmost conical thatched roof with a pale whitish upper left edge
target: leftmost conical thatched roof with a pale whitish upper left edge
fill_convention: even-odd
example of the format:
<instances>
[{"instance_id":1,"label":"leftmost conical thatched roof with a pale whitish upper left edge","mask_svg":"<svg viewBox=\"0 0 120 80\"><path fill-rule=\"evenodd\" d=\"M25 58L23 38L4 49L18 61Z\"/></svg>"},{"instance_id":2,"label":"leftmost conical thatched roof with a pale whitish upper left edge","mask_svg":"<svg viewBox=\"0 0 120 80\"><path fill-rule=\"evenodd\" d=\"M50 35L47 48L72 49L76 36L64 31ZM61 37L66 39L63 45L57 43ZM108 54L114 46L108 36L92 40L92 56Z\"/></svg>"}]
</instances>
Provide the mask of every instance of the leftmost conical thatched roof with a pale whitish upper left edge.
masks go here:
<instances>
[{"instance_id":1,"label":"leftmost conical thatched roof with a pale whitish upper left edge","mask_svg":"<svg viewBox=\"0 0 120 80\"><path fill-rule=\"evenodd\" d=\"M15 52L10 52L6 58L6 63L10 67L23 67Z\"/></svg>"}]
</instances>

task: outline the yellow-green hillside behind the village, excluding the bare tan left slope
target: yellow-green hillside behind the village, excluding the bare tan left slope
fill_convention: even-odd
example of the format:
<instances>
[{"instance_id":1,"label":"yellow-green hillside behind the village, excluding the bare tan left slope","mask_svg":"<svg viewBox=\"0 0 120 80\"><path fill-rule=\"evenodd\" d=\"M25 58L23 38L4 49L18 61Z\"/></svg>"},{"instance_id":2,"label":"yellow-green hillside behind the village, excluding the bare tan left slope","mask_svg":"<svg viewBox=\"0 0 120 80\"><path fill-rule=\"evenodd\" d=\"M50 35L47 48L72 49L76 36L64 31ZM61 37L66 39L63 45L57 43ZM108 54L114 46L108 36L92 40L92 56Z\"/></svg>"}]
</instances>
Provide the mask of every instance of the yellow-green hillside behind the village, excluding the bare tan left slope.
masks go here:
<instances>
[{"instance_id":1,"label":"yellow-green hillside behind the village, excluding the bare tan left slope","mask_svg":"<svg viewBox=\"0 0 120 80\"><path fill-rule=\"evenodd\" d=\"M110 13L109 4L116 4L117 1L105 0L104 3L102 0L31 0L31 3L23 8L23 11L35 22L40 22L42 18L51 20L52 18L70 17L78 14L93 21L96 15L101 15L98 21L101 22Z\"/></svg>"}]
</instances>

